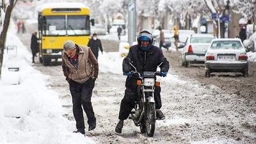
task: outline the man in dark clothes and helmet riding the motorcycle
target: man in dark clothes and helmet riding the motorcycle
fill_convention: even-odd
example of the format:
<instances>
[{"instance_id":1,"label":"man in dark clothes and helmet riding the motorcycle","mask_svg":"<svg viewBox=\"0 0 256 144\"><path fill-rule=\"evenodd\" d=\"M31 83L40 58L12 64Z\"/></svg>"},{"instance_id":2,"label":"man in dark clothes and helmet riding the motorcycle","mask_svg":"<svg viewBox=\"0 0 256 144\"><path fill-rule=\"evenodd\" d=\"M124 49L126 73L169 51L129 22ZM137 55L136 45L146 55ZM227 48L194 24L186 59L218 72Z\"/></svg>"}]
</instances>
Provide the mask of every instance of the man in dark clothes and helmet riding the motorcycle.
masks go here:
<instances>
[{"instance_id":1,"label":"man in dark clothes and helmet riding the motorcycle","mask_svg":"<svg viewBox=\"0 0 256 144\"><path fill-rule=\"evenodd\" d=\"M169 70L169 61L164 58L163 51L152 45L153 36L148 31L141 31L137 37L138 45L132 45L129 50L127 57L123 61L123 72L124 75L127 76L125 81L125 95L124 99L122 99L120 112L119 112L119 122L116 125L115 131L118 133L122 132L122 127L124 125L124 120L126 120L129 114L134 108L134 104L136 101L136 97L138 97L137 93L137 84L136 77L132 77L132 70L134 68L131 67L129 63L132 63L136 70L143 74L143 72L156 72L157 66L160 65L161 75L165 77ZM161 96L160 96L161 88L160 86L156 86L155 88L155 101L156 101L156 117L157 119L163 120L165 116L163 115L161 108Z\"/></svg>"}]
</instances>

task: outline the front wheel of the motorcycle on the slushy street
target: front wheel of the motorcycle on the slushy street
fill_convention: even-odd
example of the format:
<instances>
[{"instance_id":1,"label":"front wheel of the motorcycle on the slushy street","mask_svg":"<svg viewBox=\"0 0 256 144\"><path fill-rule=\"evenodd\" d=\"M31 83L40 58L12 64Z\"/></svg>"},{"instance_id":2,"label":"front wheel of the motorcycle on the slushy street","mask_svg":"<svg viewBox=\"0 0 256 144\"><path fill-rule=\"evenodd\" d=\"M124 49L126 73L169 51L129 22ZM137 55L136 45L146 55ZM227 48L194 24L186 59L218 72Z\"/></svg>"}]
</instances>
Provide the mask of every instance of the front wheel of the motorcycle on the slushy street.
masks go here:
<instances>
[{"instance_id":1,"label":"front wheel of the motorcycle on the slushy street","mask_svg":"<svg viewBox=\"0 0 256 144\"><path fill-rule=\"evenodd\" d=\"M147 135L154 136L156 127L156 107L155 103L147 102L146 131Z\"/></svg>"}]
</instances>

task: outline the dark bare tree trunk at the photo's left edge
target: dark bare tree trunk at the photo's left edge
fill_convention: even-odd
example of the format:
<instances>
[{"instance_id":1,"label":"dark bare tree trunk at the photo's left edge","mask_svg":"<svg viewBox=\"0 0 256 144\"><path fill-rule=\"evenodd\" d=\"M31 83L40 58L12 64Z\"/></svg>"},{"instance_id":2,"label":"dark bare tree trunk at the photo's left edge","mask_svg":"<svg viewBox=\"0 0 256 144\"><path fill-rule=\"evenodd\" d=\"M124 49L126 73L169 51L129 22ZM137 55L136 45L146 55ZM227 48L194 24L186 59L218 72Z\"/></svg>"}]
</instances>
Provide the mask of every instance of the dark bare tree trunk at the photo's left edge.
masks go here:
<instances>
[{"instance_id":1,"label":"dark bare tree trunk at the photo's left edge","mask_svg":"<svg viewBox=\"0 0 256 144\"><path fill-rule=\"evenodd\" d=\"M4 57L4 47L5 47L5 41L6 41L6 35L10 23L10 17L12 13L12 9L14 6L15 0L10 0L9 5L6 8L5 16L4 16L4 22L3 22L3 31L0 34L0 79L2 76L2 66L3 66L3 57Z\"/></svg>"}]
</instances>

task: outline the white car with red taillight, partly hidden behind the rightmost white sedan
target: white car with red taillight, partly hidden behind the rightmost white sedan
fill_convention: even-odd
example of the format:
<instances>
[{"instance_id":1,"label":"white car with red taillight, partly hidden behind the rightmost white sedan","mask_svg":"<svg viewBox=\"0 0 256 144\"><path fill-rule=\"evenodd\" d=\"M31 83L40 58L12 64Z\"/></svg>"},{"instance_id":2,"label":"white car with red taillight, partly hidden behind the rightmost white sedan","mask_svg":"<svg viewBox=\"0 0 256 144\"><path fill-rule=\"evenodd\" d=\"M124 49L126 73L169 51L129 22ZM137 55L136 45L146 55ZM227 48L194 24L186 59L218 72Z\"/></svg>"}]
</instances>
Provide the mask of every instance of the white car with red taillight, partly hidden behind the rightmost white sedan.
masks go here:
<instances>
[{"instance_id":1,"label":"white car with red taillight, partly hidden behind the rightmost white sedan","mask_svg":"<svg viewBox=\"0 0 256 144\"><path fill-rule=\"evenodd\" d=\"M193 34L188 36L184 49L181 52L182 66L188 67L189 63L204 63L204 56L215 38L212 34Z\"/></svg>"}]
</instances>

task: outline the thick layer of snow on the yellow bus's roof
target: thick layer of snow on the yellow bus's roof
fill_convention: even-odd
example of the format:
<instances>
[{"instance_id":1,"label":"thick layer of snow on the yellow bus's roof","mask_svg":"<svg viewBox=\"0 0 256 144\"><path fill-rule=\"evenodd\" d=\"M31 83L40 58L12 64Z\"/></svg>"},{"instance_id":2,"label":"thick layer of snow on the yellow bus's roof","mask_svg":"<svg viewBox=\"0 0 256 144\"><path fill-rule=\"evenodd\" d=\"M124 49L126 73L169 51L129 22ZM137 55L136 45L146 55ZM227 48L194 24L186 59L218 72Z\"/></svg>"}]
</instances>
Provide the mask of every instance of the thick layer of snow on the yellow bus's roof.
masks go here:
<instances>
[{"instance_id":1,"label":"thick layer of snow on the yellow bus's roof","mask_svg":"<svg viewBox=\"0 0 256 144\"><path fill-rule=\"evenodd\" d=\"M89 8L83 3L45 3L38 7L36 10L42 12L45 8Z\"/></svg>"}]
</instances>

